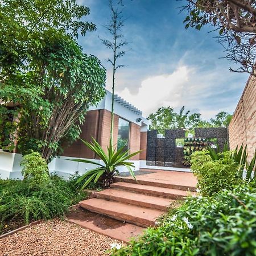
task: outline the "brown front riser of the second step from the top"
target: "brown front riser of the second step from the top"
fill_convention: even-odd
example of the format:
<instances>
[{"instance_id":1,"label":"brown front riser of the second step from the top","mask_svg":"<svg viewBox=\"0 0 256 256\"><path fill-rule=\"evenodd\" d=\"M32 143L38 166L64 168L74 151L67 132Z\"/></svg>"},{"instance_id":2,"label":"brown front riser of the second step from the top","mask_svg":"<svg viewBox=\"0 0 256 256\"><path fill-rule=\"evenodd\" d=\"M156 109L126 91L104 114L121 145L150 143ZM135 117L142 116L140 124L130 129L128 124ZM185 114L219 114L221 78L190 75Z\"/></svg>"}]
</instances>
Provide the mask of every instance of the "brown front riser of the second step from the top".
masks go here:
<instances>
[{"instance_id":1,"label":"brown front riser of the second step from the top","mask_svg":"<svg viewBox=\"0 0 256 256\"><path fill-rule=\"evenodd\" d=\"M171 193L164 193L164 192L158 192L158 191L150 191L146 189L140 189L140 188L130 188L130 187L123 187L121 185L116 185L115 183L111 184L111 188L118 189L118 190L125 190L130 191L133 193L141 193L143 195L147 196L159 196L167 199L174 199L174 200L184 200L185 197L183 195L176 195Z\"/></svg>"}]
</instances>

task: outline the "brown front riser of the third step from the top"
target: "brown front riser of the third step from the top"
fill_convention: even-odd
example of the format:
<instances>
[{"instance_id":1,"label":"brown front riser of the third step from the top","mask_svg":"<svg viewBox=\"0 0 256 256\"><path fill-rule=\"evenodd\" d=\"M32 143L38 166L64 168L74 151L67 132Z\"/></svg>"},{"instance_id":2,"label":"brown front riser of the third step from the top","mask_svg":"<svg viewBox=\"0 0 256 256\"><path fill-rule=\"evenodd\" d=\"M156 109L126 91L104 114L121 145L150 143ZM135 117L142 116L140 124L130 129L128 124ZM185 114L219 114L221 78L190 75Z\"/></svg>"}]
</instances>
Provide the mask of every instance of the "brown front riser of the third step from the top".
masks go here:
<instances>
[{"instance_id":1,"label":"brown front riser of the third step from the top","mask_svg":"<svg viewBox=\"0 0 256 256\"><path fill-rule=\"evenodd\" d=\"M105 199L105 200L109 200L109 201L118 201L120 203L132 204L132 205L137 205L140 207L146 207L146 208L150 208L150 209L167 210L167 207L164 207L162 205L150 204L150 203L136 201L136 200L130 200L130 199L126 199L126 198L118 197L118 196L102 195L102 194L98 193L97 198Z\"/></svg>"}]
</instances>

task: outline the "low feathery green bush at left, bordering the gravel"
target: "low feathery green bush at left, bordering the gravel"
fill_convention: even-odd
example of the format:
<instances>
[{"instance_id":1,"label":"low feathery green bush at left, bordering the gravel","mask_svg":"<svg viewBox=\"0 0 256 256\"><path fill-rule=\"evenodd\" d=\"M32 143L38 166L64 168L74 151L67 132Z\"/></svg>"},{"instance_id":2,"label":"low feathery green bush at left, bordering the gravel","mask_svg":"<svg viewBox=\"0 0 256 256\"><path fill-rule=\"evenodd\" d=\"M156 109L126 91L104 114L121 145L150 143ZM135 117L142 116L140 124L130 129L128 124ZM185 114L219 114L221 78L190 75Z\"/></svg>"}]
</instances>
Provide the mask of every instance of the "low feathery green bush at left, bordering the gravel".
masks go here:
<instances>
[{"instance_id":1,"label":"low feathery green bush at left, bordering the gravel","mask_svg":"<svg viewBox=\"0 0 256 256\"><path fill-rule=\"evenodd\" d=\"M56 175L43 184L31 180L0 180L0 234L28 222L62 217L68 207L85 199L86 194Z\"/></svg>"}]
</instances>

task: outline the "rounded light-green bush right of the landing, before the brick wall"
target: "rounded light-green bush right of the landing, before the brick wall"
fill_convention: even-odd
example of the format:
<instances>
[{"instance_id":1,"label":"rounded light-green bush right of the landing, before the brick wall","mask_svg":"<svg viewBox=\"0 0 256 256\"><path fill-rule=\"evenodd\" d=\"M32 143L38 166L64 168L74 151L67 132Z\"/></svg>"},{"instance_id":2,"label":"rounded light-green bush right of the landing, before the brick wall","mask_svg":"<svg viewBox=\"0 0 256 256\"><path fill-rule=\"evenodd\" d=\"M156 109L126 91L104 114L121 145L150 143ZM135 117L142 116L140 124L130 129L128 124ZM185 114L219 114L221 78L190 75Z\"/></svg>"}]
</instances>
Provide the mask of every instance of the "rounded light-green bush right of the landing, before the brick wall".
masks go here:
<instances>
[{"instance_id":1,"label":"rounded light-green bush right of the landing, before the brick wall","mask_svg":"<svg viewBox=\"0 0 256 256\"><path fill-rule=\"evenodd\" d=\"M220 154L222 158L218 160L213 160L207 150L192 154L191 170L197 177L197 186L202 195L211 196L223 189L232 189L243 182L238 164L230 157L232 151Z\"/></svg>"}]
</instances>

